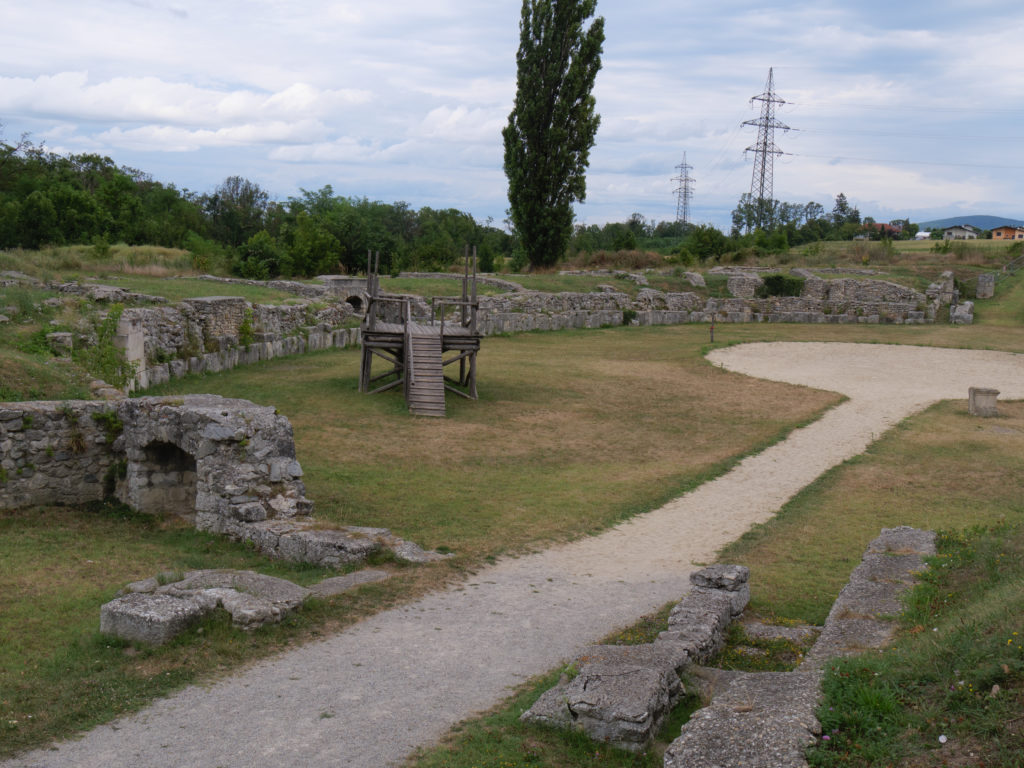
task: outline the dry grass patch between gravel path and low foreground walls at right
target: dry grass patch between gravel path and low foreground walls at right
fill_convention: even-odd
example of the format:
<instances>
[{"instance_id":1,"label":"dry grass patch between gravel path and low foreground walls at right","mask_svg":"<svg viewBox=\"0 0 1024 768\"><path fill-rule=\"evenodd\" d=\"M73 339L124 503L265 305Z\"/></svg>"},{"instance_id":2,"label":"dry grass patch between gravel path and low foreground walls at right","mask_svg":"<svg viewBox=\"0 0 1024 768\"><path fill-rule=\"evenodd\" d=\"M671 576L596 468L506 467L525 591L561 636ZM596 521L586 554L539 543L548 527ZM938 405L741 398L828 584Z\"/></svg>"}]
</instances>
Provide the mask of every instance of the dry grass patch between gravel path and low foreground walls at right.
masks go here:
<instances>
[{"instance_id":1,"label":"dry grass patch between gravel path and low foreground walls at right","mask_svg":"<svg viewBox=\"0 0 1024 768\"><path fill-rule=\"evenodd\" d=\"M753 608L815 624L883 527L1024 520L1024 402L997 419L946 401L830 470L770 522L726 548L752 571Z\"/></svg>"}]
</instances>

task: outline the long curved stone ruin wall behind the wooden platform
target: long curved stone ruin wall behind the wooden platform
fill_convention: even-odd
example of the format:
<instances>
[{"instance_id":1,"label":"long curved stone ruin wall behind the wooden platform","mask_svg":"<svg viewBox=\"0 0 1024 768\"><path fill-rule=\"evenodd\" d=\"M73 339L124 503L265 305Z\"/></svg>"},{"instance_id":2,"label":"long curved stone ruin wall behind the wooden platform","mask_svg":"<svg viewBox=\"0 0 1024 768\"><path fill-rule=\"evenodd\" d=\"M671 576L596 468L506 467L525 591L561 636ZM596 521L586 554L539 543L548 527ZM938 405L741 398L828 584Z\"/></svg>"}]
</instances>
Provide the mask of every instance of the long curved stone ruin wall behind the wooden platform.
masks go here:
<instances>
[{"instance_id":1,"label":"long curved stone ruin wall behind the wooden platform","mask_svg":"<svg viewBox=\"0 0 1024 768\"><path fill-rule=\"evenodd\" d=\"M289 281L209 280L273 286L297 294L331 297L334 301L326 307L315 306L311 301L266 305L250 304L238 297L213 296L185 299L174 306L125 309L117 344L125 350L126 359L136 365L133 389L144 389L189 373L225 371L283 355L359 343L358 329L338 326L365 307L365 280L325 275L325 286ZM935 321L940 300L931 293L925 295L886 281L816 276L805 281L799 297L759 299L755 294L762 283L753 272L734 272L728 281L732 298L709 299L692 292L666 293L649 288L641 289L632 298L611 286L591 293L519 290L481 296L477 327L483 336L489 336L620 326L626 310L636 312L634 323L642 326L711 322L924 324ZM402 298L412 301L415 318L430 318L428 301L417 296ZM386 303L382 308L382 319L400 322L399 304ZM457 310L449 312L450 317L456 315ZM243 344L241 329L247 319L252 342Z\"/></svg>"}]
</instances>

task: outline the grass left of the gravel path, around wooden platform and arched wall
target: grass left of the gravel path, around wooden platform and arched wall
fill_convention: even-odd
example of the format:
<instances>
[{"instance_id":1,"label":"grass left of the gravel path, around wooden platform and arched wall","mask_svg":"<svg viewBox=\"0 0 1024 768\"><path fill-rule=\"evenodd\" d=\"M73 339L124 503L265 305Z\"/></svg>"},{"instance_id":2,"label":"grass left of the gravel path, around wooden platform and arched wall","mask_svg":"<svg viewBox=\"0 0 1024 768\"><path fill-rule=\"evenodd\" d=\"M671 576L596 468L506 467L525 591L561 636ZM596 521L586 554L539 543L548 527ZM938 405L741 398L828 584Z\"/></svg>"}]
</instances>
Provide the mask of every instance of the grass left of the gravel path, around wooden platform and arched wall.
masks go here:
<instances>
[{"instance_id":1,"label":"grass left of the gravel path, around wooden platform and arched wall","mask_svg":"<svg viewBox=\"0 0 1024 768\"><path fill-rule=\"evenodd\" d=\"M411 599L503 553L606 527L838 399L715 369L700 355L703 342L699 328L488 339L481 399L452 401L443 422L410 418L397 393L360 395L355 350L177 382L164 391L242 396L288 415L318 517L388 526L456 557L429 567L385 564L395 577L384 585L314 605L268 632L211 626L139 650L96 632L99 605L125 583L189 567L290 569L173 521L117 510L0 513L0 718L15 723L0 752L333 631L369 603ZM300 582L323 575L291 572ZM68 580L76 590L59 589ZM58 607L40 610L51 599Z\"/></svg>"}]
</instances>

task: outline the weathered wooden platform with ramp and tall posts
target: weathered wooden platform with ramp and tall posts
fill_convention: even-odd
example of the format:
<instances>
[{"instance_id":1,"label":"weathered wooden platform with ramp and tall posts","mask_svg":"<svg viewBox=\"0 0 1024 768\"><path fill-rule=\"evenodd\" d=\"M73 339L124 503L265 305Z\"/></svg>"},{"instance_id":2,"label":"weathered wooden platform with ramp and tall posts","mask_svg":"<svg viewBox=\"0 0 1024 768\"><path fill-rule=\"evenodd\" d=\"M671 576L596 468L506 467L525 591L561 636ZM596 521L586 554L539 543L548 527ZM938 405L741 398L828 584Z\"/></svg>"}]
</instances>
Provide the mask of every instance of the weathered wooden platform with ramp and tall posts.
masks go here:
<instances>
[{"instance_id":1,"label":"weathered wooden platform with ramp and tall posts","mask_svg":"<svg viewBox=\"0 0 1024 768\"><path fill-rule=\"evenodd\" d=\"M410 413L417 416L443 417L445 391L475 400L481 338L476 317L476 248L472 274L466 248L462 297L431 299L428 324L414 322L413 297L381 294L380 253L370 254L368 262L359 391L374 394L401 386ZM374 373L374 357L387 364L383 373ZM445 376L444 370L455 364L459 364L458 378ZM379 386L371 389L374 384Z\"/></svg>"}]
</instances>

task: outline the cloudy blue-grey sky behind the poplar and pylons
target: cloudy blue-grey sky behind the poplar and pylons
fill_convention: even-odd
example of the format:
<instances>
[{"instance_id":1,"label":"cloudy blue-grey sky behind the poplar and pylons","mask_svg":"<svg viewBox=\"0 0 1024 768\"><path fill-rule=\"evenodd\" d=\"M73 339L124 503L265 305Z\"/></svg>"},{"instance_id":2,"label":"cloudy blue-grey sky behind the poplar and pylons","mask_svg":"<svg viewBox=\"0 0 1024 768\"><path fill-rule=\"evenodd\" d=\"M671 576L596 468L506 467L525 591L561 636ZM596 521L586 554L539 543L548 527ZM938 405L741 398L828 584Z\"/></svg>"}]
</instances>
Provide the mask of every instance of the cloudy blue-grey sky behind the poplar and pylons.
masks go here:
<instances>
[{"instance_id":1,"label":"cloudy blue-grey sky behind the poplar and pylons","mask_svg":"<svg viewBox=\"0 0 1024 768\"><path fill-rule=\"evenodd\" d=\"M501 129L520 0L0 0L0 122L210 191L338 195L506 215ZM585 223L728 227L751 97L774 68L775 198L878 220L1024 217L1020 0L599 0L601 128Z\"/></svg>"}]
</instances>

